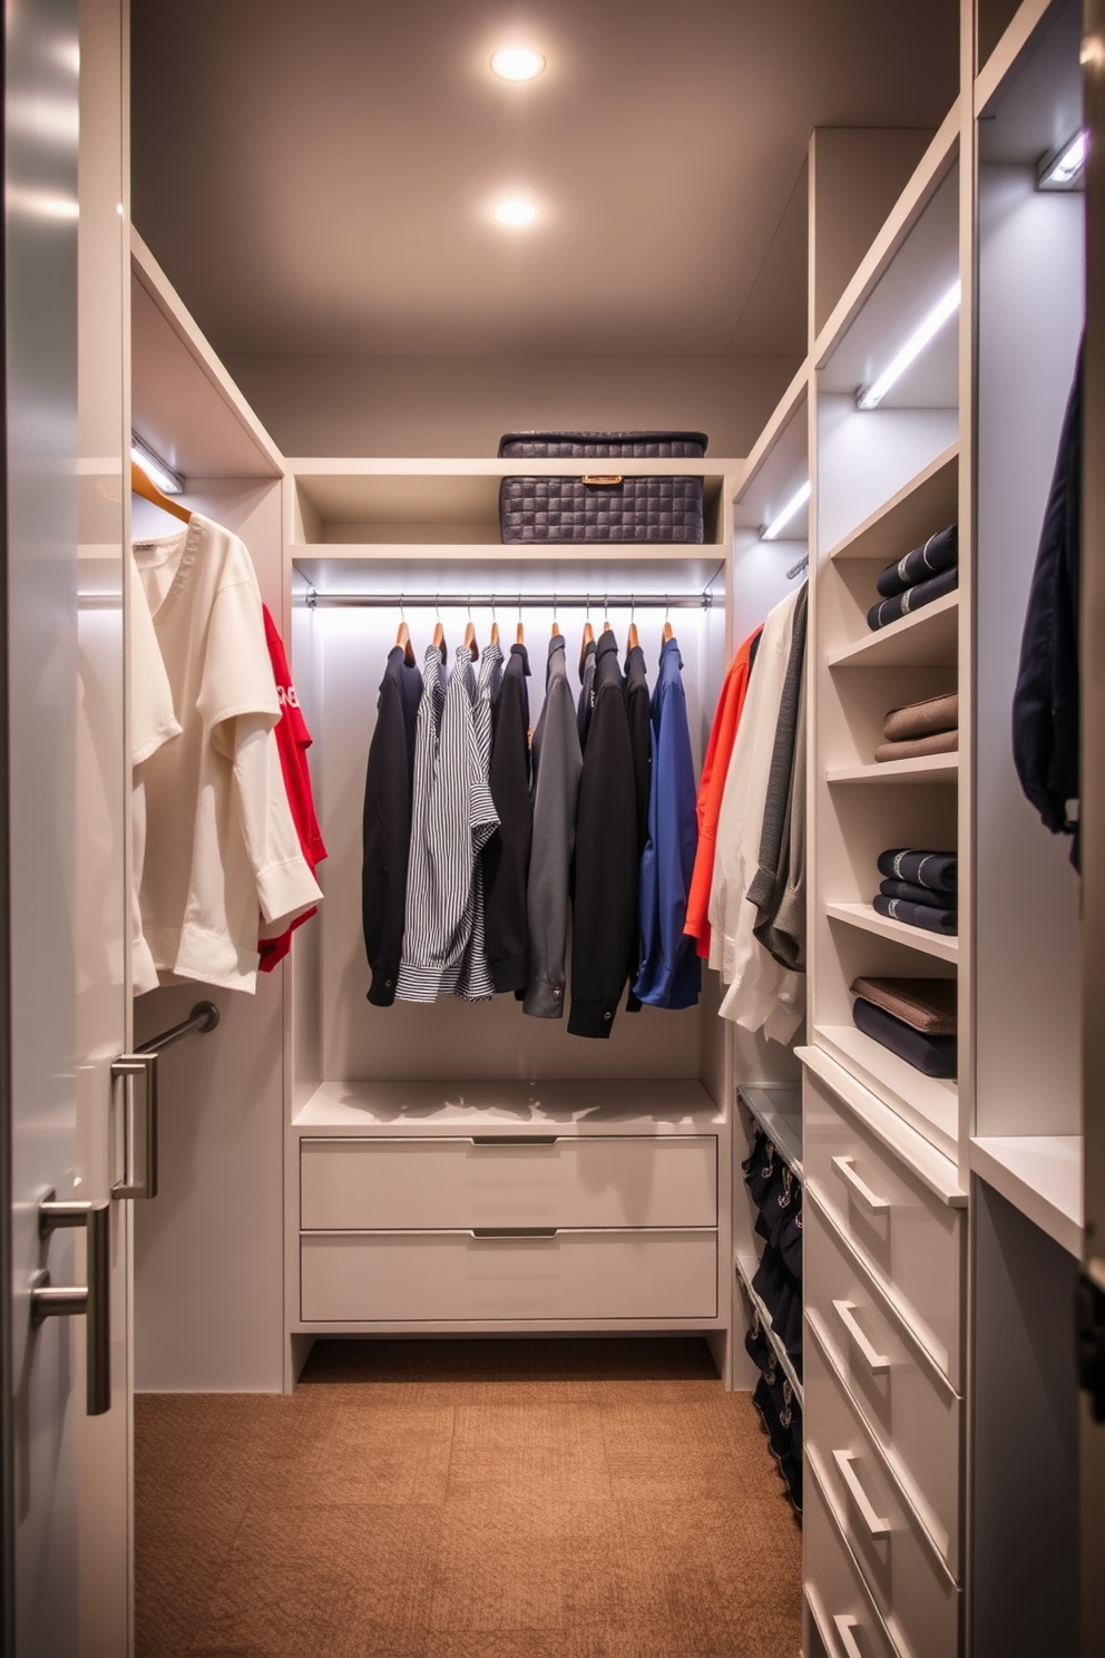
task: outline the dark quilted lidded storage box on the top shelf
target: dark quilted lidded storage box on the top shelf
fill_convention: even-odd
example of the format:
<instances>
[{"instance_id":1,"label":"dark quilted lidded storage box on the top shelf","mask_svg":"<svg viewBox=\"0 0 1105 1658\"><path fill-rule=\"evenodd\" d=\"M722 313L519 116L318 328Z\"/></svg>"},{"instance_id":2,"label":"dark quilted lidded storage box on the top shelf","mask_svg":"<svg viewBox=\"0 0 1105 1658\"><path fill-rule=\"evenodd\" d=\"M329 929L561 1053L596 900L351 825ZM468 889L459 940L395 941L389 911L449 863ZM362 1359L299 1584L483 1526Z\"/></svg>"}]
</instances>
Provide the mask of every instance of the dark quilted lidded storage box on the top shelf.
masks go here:
<instances>
[{"instance_id":1,"label":"dark quilted lidded storage box on the top shelf","mask_svg":"<svg viewBox=\"0 0 1105 1658\"><path fill-rule=\"evenodd\" d=\"M504 542L702 541L702 479L676 474L623 476L621 459L706 454L701 431L512 431L504 459L580 459L578 478L504 478L499 531Z\"/></svg>"}]
</instances>

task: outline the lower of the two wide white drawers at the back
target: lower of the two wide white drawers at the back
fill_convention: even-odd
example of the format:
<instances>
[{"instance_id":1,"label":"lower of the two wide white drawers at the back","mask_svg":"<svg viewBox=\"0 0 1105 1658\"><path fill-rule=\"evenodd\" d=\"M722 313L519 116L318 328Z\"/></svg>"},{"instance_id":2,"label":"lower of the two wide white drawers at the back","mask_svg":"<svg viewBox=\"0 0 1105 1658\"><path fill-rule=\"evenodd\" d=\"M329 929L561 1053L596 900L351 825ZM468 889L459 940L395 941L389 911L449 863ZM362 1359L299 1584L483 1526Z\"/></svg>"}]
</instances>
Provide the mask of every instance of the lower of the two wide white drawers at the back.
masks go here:
<instances>
[{"instance_id":1,"label":"lower of the two wide white drawers at the back","mask_svg":"<svg viewBox=\"0 0 1105 1658\"><path fill-rule=\"evenodd\" d=\"M716 1232L305 1234L305 1323L716 1318Z\"/></svg>"}]
</instances>

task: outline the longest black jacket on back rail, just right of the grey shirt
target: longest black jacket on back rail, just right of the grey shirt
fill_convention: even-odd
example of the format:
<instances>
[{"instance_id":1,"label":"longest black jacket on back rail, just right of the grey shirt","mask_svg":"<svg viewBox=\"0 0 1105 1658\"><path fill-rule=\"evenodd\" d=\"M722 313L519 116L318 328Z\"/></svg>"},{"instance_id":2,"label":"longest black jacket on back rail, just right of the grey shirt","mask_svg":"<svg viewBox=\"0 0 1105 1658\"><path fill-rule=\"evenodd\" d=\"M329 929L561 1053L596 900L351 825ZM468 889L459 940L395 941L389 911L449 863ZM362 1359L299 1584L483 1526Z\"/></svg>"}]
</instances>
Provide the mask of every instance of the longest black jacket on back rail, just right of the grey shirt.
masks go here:
<instances>
[{"instance_id":1,"label":"longest black jacket on back rail, just right of the grey shirt","mask_svg":"<svg viewBox=\"0 0 1105 1658\"><path fill-rule=\"evenodd\" d=\"M618 642L601 633L583 751L572 907L573 1036L610 1036L636 950L636 791Z\"/></svg>"}]
</instances>

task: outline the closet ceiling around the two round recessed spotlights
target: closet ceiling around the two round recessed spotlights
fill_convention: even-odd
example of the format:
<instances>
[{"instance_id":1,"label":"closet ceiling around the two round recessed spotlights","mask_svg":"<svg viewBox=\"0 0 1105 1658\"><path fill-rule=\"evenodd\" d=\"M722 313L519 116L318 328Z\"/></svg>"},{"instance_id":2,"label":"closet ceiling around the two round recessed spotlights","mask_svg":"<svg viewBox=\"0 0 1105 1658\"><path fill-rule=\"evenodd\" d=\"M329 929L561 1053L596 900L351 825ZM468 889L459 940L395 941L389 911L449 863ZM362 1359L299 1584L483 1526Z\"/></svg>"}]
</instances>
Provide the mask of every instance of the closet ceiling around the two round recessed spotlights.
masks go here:
<instances>
[{"instance_id":1,"label":"closet ceiling around the two round recessed spotlights","mask_svg":"<svg viewBox=\"0 0 1105 1658\"><path fill-rule=\"evenodd\" d=\"M224 355L800 355L810 129L956 85L958 0L131 10L134 222Z\"/></svg>"}]
</instances>

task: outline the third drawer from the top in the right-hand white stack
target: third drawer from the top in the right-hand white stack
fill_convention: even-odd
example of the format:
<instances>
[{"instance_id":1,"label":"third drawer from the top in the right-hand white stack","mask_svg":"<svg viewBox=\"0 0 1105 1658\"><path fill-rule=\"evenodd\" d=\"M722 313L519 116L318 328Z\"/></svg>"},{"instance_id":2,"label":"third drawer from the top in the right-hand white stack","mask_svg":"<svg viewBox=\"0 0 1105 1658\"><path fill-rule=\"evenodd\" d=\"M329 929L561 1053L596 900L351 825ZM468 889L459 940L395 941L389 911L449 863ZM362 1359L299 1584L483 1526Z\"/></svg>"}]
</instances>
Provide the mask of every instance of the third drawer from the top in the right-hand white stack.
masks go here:
<instances>
[{"instance_id":1,"label":"third drawer from the top in the right-hand white stack","mask_svg":"<svg viewBox=\"0 0 1105 1658\"><path fill-rule=\"evenodd\" d=\"M805 1351L805 1466L903 1658L953 1658L959 1590L817 1340Z\"/></svg>"}]
</instances>

